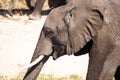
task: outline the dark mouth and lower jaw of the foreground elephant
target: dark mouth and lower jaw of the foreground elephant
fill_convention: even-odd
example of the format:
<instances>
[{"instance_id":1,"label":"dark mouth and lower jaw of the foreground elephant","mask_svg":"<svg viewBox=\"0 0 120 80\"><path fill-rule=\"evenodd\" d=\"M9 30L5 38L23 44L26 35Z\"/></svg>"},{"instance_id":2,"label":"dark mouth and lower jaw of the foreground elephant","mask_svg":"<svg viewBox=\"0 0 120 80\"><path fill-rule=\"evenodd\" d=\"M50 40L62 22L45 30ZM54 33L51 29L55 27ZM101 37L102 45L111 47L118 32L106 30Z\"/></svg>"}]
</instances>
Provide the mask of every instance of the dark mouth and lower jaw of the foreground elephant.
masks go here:
<instances>
[{"instance_id":1,"label":"dark mouth and lower jaw of the foreground elephant","mask_svg":"<svg viewBox=\"0 0 120 80\"><path fill-rule=\"evenodd\" d=\"M66 50L66 47L64 45L61 45L61 46L54 45L53 52L51 54L51 56L53 57L53 60L56 60L59 57L65 55L66 54L65 50Z\"/></svg>"}]
</instances>

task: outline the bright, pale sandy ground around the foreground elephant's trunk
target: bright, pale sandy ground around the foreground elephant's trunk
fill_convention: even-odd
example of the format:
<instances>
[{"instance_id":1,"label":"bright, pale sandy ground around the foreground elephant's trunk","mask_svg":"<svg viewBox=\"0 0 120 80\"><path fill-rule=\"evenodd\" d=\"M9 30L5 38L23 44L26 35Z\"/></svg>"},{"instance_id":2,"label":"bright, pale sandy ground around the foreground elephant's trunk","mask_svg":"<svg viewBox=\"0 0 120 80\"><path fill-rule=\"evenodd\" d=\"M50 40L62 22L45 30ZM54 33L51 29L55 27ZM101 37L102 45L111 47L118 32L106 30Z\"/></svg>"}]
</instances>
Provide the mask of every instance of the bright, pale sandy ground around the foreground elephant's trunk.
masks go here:
<instances>
[{"instance_id":1,"label":"bright, pale sandy ground around the foreground elephant's trunk","mask_svg":"<svg viewBox=\"0 0 120 80\"><path fill-rule=\"evenodd\" d=\"M0 18L0 75L13 76L19 68L28 65L34 52L45 16L40 21ZM85 77L88 66L88 55L79 57L63 56L44 65L41 74L66 76L77 74Z\"/></svg>"}]
</instances>

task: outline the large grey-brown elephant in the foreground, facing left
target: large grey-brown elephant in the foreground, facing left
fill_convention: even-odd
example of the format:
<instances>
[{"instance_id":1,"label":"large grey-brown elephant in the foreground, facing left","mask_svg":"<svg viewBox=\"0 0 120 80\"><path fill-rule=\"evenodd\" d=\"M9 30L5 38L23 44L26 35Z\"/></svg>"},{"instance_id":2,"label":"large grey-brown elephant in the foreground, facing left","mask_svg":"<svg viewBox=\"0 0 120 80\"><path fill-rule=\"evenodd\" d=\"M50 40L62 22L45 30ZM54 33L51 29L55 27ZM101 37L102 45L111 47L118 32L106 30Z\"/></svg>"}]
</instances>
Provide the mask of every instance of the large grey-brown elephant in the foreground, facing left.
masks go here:
<instances>
[{"instance_id":1,"label":"large grey-brown elephant in the foreground, facing left","mask_svg":"<svg viewBox=\"0 0 120 80\"><path fill-rule=\"evenodd\" d=\"M120 1L71 0L53 9L23 80L35 80L50 56L89 54L86 80L120 80Z\"/></svg>"}]
</instances>

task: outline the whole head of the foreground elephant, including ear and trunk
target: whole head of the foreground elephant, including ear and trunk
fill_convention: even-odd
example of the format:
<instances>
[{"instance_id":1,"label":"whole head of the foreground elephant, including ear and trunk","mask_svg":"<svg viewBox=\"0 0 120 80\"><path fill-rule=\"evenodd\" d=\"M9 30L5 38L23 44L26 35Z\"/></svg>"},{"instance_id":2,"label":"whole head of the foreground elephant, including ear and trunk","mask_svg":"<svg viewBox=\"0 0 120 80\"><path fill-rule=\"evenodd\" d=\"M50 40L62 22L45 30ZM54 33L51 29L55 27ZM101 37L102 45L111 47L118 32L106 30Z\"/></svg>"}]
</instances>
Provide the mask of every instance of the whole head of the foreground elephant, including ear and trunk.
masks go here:
<instances>
[{"instance_id":1,"label":"whole head of the foreground elephant, including ear and trunk","mask_svg":"<svg viewBox=\"0 0 120 80\"><path fill-rule=\"evenodd\" d=\"M63 55L79 55L89 51L91 39L103 25L103 15L99 6L87 4L84 0L70 0L50 12L31 62L41 55L44 58L28 69L24 80L35 79L49 56L57 59Z\"/></svg>"}]
</instances>

